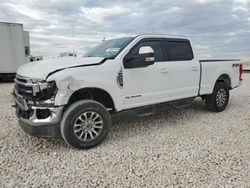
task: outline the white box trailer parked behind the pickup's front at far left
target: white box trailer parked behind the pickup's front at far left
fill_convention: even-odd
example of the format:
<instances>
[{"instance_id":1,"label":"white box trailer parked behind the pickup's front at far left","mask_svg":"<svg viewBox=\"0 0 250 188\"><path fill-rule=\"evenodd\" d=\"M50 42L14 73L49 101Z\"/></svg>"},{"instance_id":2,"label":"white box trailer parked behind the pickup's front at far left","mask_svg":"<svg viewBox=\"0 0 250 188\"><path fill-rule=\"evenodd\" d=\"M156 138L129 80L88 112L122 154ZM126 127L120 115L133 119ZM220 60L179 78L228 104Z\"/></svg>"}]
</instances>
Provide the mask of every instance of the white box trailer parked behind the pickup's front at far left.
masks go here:
<instances>
[{"instance_id":1,"label":"white box trailer parked behind the pickup's front at far left","mask_svg":"<svg viewBox=\"0 0 250 188\"><path fill-rule=\"evenodd\" d=\"M17 69L29 62L29 32L19 23L0 22L0 80L13 77Z\"/></svg>"}]
</instances>

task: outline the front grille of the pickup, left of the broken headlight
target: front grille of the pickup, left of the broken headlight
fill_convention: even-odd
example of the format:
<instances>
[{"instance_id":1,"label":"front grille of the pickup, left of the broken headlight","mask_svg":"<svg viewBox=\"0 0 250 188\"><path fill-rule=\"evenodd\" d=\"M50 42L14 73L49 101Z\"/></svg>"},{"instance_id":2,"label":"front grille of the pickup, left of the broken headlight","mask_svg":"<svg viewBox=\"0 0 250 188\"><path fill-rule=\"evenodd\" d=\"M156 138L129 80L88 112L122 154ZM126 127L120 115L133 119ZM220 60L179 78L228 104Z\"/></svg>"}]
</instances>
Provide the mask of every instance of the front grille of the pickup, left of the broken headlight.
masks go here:
<instances>
[{"instance_id":1,"label":"front grille of the pickup, left of the broken headlight","mask_svg":"<svg viewBox=\"0 0 250 188\"><path fill-rule=\"evenodd\" d=\"M33 84L28 79L16 75L15 92L25 98L33 97Z\"/></svg>"}]
</instances>

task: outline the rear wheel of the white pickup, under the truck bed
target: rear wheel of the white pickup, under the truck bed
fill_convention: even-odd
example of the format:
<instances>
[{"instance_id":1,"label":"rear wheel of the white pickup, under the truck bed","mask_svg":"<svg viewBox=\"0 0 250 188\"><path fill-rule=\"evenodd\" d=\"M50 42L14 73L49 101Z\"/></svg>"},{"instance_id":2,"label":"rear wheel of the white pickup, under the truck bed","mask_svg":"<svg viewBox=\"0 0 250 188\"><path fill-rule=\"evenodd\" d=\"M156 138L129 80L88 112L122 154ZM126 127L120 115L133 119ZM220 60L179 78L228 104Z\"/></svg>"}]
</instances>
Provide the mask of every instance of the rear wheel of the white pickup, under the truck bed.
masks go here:
<instances>
[{"instance_id":1,"label":"rear wheel of the white pickup, under the truck bed","mask_svg":"<svg viewBox=\"0 0 250 188\"><path fill-rule=\"evenodd\" d=\"M224 82L217 82L214 86L213 93L207 95L206 107L212 112L221 112L225 110L229 100L229 87ZM224 102L223 102L224 101Z\"/></svg>"}]
</instances>

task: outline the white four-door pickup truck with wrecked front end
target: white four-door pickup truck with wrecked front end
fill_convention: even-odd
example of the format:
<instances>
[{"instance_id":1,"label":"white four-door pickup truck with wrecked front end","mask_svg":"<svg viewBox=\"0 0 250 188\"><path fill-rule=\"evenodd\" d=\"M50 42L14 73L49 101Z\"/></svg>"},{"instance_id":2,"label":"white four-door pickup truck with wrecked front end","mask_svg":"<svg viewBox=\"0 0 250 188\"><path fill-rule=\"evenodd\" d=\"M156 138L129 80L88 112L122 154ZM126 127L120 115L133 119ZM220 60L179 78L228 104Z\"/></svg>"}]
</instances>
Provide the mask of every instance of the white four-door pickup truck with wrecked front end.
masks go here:
<instances>
[{"instance_id":1,"label":"white four-door pickup truck with wrecked front end","mask_svg":"<svg viewBox=\"0 0 250 188\"><path fill-rule=\"evenodd\" d=\"M113 113L196 97L223 111L241 76L240 60L198 60L187 39L138 35L107 40L85 57L21 66L15 106L25 132L87 149L107 136Z\"/></svg>"}]
</instances>

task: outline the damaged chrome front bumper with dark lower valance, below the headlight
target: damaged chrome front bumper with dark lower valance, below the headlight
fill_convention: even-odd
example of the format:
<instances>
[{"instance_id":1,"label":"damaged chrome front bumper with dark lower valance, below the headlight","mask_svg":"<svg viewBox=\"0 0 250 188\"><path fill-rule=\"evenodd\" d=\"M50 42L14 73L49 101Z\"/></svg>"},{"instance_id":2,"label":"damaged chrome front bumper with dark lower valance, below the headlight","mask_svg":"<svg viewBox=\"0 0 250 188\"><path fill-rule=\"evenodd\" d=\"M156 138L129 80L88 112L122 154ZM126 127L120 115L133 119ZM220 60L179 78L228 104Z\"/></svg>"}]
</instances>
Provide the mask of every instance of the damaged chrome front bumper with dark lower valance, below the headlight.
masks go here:
<instances>
[{"instance_id":1,"label":"damaged chrome front bumper with dark lower valance, below the headlight","mask_svg":"<svg viewBox=\"0 0 250 188\"><path fill-rule=\"evenodd\" d=\"M36 107L29 110L16 106L21 128L37 137L56 137L60 135L60 121L63 107Z\"/></svg>"}]
</instances>

